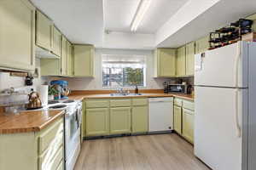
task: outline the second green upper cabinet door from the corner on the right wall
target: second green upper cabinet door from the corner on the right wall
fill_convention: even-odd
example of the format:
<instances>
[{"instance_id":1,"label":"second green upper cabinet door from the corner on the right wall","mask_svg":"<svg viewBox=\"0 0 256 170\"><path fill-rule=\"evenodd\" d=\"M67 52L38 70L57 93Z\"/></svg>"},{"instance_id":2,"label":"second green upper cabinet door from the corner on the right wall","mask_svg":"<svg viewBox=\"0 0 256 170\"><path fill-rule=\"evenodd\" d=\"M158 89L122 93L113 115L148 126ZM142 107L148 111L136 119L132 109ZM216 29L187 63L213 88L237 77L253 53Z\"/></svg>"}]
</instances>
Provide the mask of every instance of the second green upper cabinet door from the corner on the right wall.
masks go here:
<instances>
[{"instance_id":1,"label":"second green upper cabinet door from the corner on the right wall","mask_svg":"<svg viewBox=\"0 0 256 170\"><path fill-rule=\"evenodd\" d=\"M195 42L186 44L186 76L194 76Z\"/></svg>"}]
</instances>

